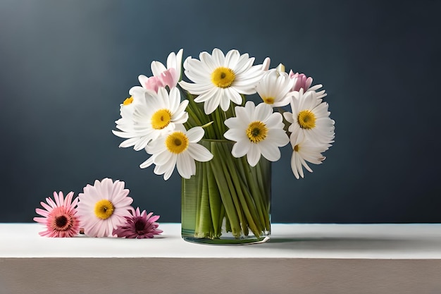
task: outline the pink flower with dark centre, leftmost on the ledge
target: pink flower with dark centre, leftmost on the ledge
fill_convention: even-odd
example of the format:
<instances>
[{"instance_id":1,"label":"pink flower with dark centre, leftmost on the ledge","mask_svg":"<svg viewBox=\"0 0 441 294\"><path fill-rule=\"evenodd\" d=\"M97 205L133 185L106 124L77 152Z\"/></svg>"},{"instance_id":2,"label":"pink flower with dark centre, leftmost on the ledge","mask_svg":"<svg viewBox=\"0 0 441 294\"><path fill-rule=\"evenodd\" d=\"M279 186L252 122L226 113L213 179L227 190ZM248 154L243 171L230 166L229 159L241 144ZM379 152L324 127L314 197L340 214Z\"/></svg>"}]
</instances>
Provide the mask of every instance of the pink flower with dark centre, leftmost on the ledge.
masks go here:
<instances>
[{"instance_id":1,"label":"pink flower with dark centre, leftmost on the ledge","mask_svg":"<svg viewBox=\"0 0 441 294\"><path fill-rule=\"evenodd\" d=\"M39 235L46 237L73 237L80 232L80 221L76 216L78 197L72 201L73 192L63 197L63 192L54 192L54 200L46 198L46 203L40 202L42 207L35 209L37 214L43 217L35 217L34 221L46 225L46 231L39 232ZM49 205L48 205L49 204Z\"/></svg>"}]
</instances>

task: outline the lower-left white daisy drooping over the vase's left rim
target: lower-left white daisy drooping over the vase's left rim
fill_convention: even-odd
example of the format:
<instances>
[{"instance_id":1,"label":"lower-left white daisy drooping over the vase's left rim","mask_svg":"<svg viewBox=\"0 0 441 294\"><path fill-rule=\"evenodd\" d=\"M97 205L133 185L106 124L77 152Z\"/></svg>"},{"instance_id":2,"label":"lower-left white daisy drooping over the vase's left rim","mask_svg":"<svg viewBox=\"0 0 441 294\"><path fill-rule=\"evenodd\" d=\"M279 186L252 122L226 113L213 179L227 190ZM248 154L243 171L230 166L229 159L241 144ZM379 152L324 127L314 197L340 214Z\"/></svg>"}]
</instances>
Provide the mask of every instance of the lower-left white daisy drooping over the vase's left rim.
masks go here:
<instances>
[{"instance_id":1,"label":"lower-left white daisy drooping over the vase's left rim","mask_svg":"<svg viewBox=\"0 0 441 294\"><path fill-rule=\"evenodd\" d=\"M175 166L182 178L190 178L196 173L197 161L209 161L213 154L206 147L197 144L204 137L204 129L194 127L185 130L183 125L177 125L176 129L151 142L149 151L151 157L139 165L141 169L155 164L154 173L162 175L168 180Z\"/></svg>"}]
</instances>

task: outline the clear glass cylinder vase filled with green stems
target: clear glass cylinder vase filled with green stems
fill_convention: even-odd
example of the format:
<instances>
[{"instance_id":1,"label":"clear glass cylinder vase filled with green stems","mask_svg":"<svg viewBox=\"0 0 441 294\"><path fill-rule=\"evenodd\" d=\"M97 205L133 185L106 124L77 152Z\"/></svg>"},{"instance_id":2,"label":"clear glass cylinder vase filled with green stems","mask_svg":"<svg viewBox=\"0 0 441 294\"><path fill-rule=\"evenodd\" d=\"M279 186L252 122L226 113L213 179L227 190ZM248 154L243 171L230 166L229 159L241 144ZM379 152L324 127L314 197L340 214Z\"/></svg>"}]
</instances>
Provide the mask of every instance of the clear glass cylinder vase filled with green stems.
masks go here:
<instances>
[{"instance_id":1,"label":"clear glass cylinder vase filled with green stems","mask_svg":"<svg viewBox=\"0 0 441 294\"><path fill-rule=\"evenodd\" d=\"M194 243L262 243L271 233L271 162L250 166L231 154L234 142L201 140L213 154L182 178L182 238Z\"/></svg>"}]
</instances>

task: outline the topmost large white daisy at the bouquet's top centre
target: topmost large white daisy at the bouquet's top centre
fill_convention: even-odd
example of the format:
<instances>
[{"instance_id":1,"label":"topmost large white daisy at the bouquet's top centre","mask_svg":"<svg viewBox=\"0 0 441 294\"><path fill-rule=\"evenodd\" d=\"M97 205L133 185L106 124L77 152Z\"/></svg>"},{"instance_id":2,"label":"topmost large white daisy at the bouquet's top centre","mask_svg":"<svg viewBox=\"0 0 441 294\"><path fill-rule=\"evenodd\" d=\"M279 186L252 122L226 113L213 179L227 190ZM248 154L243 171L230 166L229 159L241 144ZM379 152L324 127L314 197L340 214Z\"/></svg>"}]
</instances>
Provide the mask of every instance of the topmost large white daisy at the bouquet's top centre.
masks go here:
<instances>
[{"instance_id":1,"label":"topmost large white daisy at the bouquet's top centre","mask_svg":"<svg viewBox=\"0 0 441 294\"><path fill-rule=\"evenodd\" d=\"M220 49L213 49L212 55L201 52L199 59L188 57L184 62L185 75L192 80L179 84L191 94L199 95L195 102L204 102L204 111L211 114L219 105L223 111L230 107L230 101L242 104L240 94L256 93L265 65L253 66L254 57L240 55L230 50L224 56Z\"/></svg>"}]
</instances>

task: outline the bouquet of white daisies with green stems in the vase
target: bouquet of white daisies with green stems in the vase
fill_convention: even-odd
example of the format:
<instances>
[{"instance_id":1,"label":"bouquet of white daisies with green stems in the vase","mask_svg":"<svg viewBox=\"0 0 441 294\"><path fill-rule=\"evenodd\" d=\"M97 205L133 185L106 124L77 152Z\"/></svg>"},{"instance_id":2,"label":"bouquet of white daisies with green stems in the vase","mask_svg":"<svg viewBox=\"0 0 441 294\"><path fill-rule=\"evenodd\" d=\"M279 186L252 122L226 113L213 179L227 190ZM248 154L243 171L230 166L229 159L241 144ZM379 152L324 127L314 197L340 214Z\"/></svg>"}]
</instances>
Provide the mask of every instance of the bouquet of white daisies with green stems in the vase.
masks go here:
<instances>
[{"instance_id":1,"label":"bouquet of white daisies with green stems in the vase","mask_svg":"<svg viewBox=\"0 0 441 294\"><path fill-rule=\"evenodd\" d=\"M170 53L166 66L153 61L151 77L139 75L140 85L120 104L113 134L125 139L120 147L150 155L142 169L154 165L164 180L178 170L182 197L194 195L182 201L194 210L195 238L225 232L241 238L249 231L260 237L269 231L268 162L278 161L279 148L290 143L292 172L303 178L303 168L321 164L333 143L325 90L302 73L286 73L282 64L270 69L269 58L255 65L237 50L189 56L182 71L182 53Z\"/></svg>"}]
</instances>

